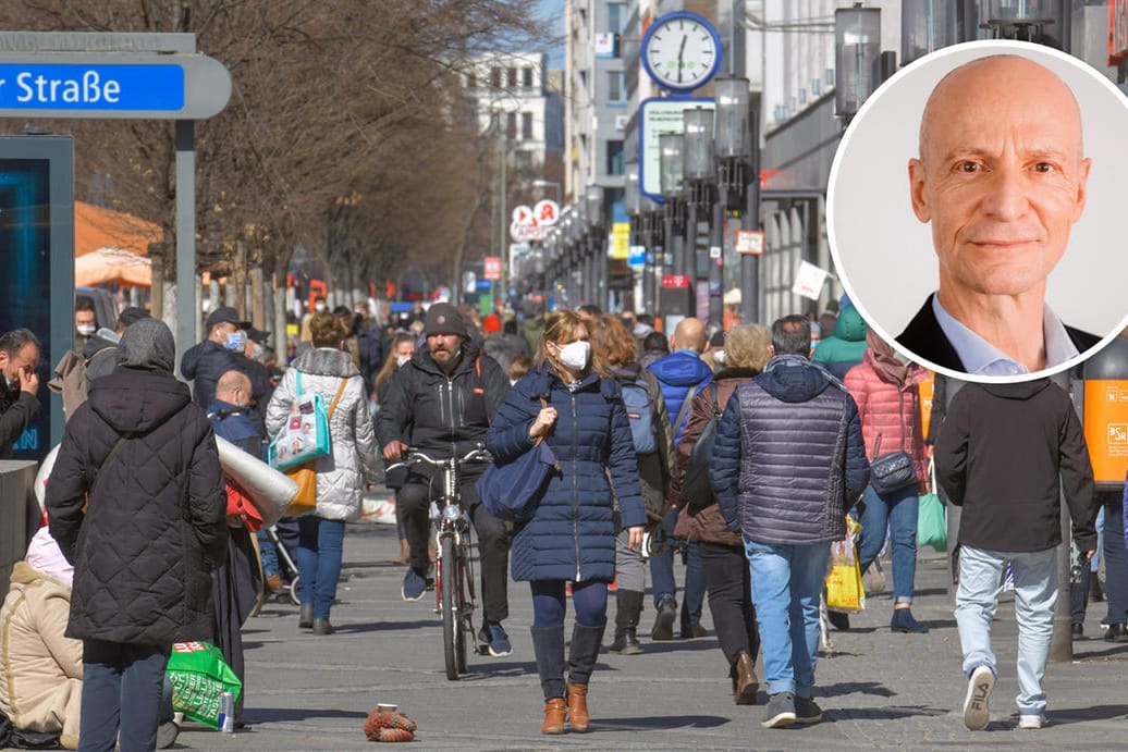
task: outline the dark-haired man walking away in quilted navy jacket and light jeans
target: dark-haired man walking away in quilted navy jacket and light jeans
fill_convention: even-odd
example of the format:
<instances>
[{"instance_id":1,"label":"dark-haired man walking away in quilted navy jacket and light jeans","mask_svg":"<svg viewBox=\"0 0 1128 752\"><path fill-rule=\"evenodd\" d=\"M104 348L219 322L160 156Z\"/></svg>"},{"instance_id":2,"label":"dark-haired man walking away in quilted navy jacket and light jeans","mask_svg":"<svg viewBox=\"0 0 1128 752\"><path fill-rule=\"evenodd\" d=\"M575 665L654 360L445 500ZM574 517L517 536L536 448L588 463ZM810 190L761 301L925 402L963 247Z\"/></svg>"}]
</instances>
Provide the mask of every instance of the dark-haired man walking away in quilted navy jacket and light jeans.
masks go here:
<instances>
[{"instance_id":1,"label":"dark-haired man walking away in quilted navy jacket and light jeans","mask_svg":"<svg viewBox=\"0 0 1128 752\"><path fill-rule=\"evenodd\" d=\"M846 537L870 463L857 405L808 360L810 322L773 324L772 352L729 398L710 478L729 529L743 533L769 695L764 726L781 728L822 718L812 699L819 600L830 543Z\"/></svg>"}]
</instances>

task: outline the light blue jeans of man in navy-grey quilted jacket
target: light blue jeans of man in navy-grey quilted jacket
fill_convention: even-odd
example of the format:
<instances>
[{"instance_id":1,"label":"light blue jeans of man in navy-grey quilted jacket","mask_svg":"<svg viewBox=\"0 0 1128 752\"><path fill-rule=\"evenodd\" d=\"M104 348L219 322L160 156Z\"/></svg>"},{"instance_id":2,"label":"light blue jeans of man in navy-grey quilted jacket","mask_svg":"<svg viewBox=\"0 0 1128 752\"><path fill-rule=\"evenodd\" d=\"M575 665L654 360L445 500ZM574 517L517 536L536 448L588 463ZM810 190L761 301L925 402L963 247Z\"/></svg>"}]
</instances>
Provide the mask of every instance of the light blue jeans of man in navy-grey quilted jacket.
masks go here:
<instances>
[{"instance_id":1,"label":"light blue jeans of man in navy-grey quilted jacket","mask_svg":"<svg viewBox=\"0 0 1128 752\"><path fill-rule=\"evenodd\" d=\"M793 692L810 698L830 543L790 546L746 538L744 555L752 576L768 695Z\"/></svg>"}]
</instances>

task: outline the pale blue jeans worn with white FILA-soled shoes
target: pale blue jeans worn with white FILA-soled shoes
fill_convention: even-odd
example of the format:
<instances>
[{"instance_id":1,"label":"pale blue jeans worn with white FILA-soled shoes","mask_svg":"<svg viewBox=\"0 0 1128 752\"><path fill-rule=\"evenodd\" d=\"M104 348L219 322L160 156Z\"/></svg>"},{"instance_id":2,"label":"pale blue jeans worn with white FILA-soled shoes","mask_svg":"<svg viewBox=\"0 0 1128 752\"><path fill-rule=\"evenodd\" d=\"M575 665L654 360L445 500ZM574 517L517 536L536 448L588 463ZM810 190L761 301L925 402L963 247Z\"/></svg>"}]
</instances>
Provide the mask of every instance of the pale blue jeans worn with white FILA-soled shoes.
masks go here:
<instances>
[{"instance_id":1,"label":"pale blue jeans worn with white FILA-soled shoes","mask_svg":"<svg viewBox=\"0 0 1128 752\"><path fill-rule=\"evenodd\" d=\"M1046 709L1042 676L1054 637L1057 601L1057 548L1045 551L988 551L960 547L960 587L955 593L955 623L963 647L963 671L987 666L998 674L990 647L990 620L998 607L1003 572L1014 572L1014 616L1019 622L1019 697L1022 715Z\"/></svg>"}]
</instances>

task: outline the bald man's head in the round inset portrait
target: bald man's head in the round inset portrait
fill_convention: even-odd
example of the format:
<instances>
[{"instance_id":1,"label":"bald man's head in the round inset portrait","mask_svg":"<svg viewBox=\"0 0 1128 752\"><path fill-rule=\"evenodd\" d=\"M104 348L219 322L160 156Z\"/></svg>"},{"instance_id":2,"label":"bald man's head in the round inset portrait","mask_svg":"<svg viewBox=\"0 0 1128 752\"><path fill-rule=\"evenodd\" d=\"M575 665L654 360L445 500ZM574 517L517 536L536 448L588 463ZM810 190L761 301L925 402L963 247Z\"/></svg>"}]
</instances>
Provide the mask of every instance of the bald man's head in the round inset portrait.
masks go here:
<instances>
[{"instance_id":1,"label":"bald man's head in the round inset portrait","mask_svg":"<svg viewBox=\"0 0 1128 752\"><path fill-rule=\"evenodd\" d=\"M942 297L1045 295L1085 207L1081 120L1054 73L1014 57L960 69L934 91L913 210L932 222Z\"/></svg>"}]
</instances>

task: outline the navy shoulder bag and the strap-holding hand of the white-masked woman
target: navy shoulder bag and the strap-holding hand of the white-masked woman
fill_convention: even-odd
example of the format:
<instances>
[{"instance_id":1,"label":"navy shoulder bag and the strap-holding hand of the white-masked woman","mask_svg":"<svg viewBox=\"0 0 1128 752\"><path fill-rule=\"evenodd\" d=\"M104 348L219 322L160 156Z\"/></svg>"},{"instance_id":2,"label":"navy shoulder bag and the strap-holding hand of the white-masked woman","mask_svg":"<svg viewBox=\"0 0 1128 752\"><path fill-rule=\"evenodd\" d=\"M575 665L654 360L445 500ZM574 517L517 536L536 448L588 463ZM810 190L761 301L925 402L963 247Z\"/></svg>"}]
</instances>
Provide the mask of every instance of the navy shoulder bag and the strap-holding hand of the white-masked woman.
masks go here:
<instances>
[{"instance_id":1,"label":"navy shoulder bag and the strap-holding hand of the white-masked woman","mask_svg":"<svg viewBox=\"0 0 1128 752\"><path fill-rule=\"evenodd\" d=\"M540 406L548 407L543 397ZM526 522L532 519L549 479L557 471L556 455L544 436L537 436L529 451L515 459L494 460L474 487L492 515L505 522Z\"/></svg>"}]
</instances>

